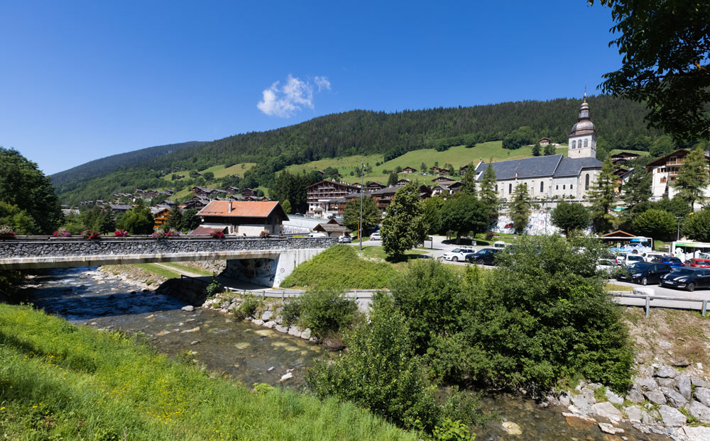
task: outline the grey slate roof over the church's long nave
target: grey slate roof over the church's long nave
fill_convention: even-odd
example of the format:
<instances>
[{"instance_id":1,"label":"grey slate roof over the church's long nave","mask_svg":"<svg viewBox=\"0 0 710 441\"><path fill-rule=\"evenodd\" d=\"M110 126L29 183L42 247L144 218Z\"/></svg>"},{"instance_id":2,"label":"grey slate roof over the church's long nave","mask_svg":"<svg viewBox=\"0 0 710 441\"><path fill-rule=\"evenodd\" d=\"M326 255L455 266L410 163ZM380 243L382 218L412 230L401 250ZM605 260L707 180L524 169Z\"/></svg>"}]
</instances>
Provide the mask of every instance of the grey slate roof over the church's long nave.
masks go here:
<instances>
[{"instance_id":1,"label":"grey slate roof over the church's long nave","mask_svg":"<svg viewBox=\"0 0 710 441\"><path fill-rule=\"evenodd\" d=\"M479 181L483 177L481 172L484 172L489 166L493 167L493 171L496 172L496 180L502 181L515 179L515 174L518 175L518 179L578 176L581 169L601 167L601 162L593 157L569 158L562 155L526 157L522 160L493 163L482 162L476 167Z\"/></svg>"}]
</instances>

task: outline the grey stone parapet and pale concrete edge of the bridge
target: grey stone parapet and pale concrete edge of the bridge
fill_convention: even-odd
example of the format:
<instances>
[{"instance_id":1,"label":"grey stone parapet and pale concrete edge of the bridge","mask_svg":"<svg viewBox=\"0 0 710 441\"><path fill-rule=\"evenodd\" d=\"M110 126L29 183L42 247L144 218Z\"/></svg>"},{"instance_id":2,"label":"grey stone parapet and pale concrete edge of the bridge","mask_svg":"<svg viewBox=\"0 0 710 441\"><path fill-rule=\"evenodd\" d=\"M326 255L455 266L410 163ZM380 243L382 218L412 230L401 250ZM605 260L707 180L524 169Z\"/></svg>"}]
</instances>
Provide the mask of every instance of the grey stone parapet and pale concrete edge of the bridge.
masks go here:
<instances>
[{"instance_id":1,"label":"grey stone parapet and pale concrete edge of the bridge","mask_svg":"<svg viewBox=\"0 0 710 441\"><path fill-rule=\"evenodd\" d=\"M179 262L280 255L324 250L337 238L78 238L28 237L0 240L0 269L71 267L95 264Z\"/></svg>"}]
</instances>

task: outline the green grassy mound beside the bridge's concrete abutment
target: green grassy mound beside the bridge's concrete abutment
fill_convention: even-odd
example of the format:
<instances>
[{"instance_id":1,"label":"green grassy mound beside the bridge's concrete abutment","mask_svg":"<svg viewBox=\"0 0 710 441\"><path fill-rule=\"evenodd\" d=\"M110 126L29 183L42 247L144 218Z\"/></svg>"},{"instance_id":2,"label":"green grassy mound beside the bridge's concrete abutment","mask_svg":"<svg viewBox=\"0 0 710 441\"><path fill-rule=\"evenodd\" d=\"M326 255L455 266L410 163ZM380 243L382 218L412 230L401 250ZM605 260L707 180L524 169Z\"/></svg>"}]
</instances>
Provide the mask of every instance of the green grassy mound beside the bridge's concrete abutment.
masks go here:
<instances>
[{"instance_id":1,"label":"green grassy mound beside the bridge's concrete abutment","mask_svg":"<svg viewBox=\"0 0 710 441\"><path fill-rule=\"evenodd\" d=\"M363 250L381 247L363 247ZM283 288L318 286L324 289L380 289L387 288L396 274L395 267L379 259L362 259L358 248L352 245L335 245L298 265L281 283ZM370 257L368 255L368 257Z\"/></svg>"}]
</instances>

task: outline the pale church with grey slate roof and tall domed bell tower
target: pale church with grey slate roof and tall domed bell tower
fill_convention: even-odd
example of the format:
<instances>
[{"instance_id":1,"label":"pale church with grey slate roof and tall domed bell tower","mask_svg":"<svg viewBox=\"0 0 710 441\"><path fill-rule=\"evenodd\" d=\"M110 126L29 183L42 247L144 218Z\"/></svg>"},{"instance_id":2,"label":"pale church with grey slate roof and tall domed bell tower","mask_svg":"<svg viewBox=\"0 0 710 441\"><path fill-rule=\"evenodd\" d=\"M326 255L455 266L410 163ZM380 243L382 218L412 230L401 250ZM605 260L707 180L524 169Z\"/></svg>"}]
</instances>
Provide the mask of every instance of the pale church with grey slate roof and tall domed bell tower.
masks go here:
<instances>
[{"instance_id":1,"label":"pale church with grey slate roof and tall domed bell tower","mask_svg":"<svg viewBox=\"0 0 710 441\"><path fill-rule=\"evenodd\" d=\"M527 184L532 198L572 196L574 199L588 199L589 191L601 172L601 161L596 159L596 129L589 119L586 92L579 107L578 121L569 133L568 145L567 157L550 155L479 162L476 165L476 180L481 181L486 167L493 167L496 172L496 192L501 199L510 199L518 184Z\"/></svg>"}]
</instances>

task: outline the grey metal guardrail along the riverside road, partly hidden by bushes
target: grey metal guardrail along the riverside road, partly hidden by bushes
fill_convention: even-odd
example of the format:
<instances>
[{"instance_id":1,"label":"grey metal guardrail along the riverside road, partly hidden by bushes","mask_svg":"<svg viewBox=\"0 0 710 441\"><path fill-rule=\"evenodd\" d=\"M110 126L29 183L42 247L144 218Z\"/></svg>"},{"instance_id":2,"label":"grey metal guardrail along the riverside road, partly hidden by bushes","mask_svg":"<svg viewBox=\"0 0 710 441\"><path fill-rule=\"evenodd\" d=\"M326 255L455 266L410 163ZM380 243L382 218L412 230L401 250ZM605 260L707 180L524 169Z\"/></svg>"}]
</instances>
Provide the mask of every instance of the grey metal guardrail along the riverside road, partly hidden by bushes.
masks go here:
<instances>
[{"instance_id":1,"label":"grey metal guardrail along the riverside road, partly hidden by bushes","mask_svg":"<svg viewBox=\"0 0 710 441\"><path fill-rule=\"evenodd\" d=\"M209 284L208 281L204 281L202 279L197 279L195 277L190 277L186 276L185 274L180 275L180 279L190 279L190 283L195 283L195 281L200 282L201 284ZM261 296L261 300L266 300L266 298L280 298L281 301L284 301L286 298L294 298L297 296L300 296L300 294L303 294L304 291L300 290L269 290L266 291L266 289L237 289L237 288L231 288L229 286L225 287L227 291L241 295L241 296L247 296L247 295L252 295L256 297ZM349 291L344 291L344 294L348 298L354 298L356 301L358 300L363 300L363 299L370 299L372 298L373 294L375 294L378 291L383 291L383 292L390 292L389 289L353 289ZM644 303L644 308L646 312L646 317L650 316L650 310L651 310L651 301L653 300L669 300L669 301L681 301L681 302L690 302L690 303L701 303L701 308L700 311L702 313L702 316L705 316L707 313L708 309L708 301L704 300L702 298L684 298L684 297L665 297L665 296L639 296L637 294L623 294L621 292L611 292L609 293L611 296L616 297L616 298L640 298L645 301ZM627 305L627 306L635 306L635 305ZM655 308L675 308L673 306L655 306ZM688 308L688 309L694 309L694 308Z\"/></svg>"}]
</instances>

